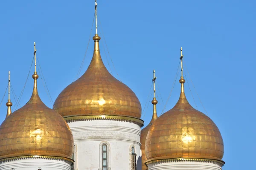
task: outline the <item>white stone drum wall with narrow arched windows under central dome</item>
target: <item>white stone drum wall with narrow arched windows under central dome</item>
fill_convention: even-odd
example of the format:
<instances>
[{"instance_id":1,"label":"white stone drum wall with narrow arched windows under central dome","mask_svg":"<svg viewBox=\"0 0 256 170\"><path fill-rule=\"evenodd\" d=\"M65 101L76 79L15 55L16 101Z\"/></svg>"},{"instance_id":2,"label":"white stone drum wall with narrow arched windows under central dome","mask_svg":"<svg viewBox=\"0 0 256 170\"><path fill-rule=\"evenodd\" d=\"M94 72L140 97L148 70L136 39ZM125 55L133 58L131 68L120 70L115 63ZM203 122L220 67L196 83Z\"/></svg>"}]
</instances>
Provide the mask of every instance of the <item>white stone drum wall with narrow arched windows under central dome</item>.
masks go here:
<instances>
[{"instance_id":1,"label":"white stone drum wall with narrow arched windows under central dome","mask_svg":"<svg viewBox=\"0 0 256 170\"><path fill-rule=\"evenodd\" d=\"M140 126L132 122L87 120L68 122L76 147L76 170L102 170L102 144L108 145L108 170L131 169L131 147L141 170Z\"/></svg>"}]
</instances>

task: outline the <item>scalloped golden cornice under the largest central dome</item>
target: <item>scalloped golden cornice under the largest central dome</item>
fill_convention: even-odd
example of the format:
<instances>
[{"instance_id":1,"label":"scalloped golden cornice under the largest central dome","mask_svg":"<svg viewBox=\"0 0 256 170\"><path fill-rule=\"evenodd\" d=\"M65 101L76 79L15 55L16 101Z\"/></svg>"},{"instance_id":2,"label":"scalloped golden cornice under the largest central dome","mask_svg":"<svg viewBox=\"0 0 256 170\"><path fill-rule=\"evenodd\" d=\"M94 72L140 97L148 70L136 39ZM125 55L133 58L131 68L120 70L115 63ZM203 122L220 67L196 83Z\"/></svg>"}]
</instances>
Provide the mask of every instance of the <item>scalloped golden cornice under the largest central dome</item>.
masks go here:
<instances>
[{"instance_id":1,"label":"scalloped golden cornice under the largest central dome","mask_svg":"<svg viewBox=\"0 0 256 170\"><path fill-rule=\"evenodd\" d=\"M134 117L128 116L115 116L115 115L78 115L78 116L63 116L67 123L79 122L87 120L114 120L121 122L131 122L143 127L144 121Z\"/></svg>"}]
</instances>

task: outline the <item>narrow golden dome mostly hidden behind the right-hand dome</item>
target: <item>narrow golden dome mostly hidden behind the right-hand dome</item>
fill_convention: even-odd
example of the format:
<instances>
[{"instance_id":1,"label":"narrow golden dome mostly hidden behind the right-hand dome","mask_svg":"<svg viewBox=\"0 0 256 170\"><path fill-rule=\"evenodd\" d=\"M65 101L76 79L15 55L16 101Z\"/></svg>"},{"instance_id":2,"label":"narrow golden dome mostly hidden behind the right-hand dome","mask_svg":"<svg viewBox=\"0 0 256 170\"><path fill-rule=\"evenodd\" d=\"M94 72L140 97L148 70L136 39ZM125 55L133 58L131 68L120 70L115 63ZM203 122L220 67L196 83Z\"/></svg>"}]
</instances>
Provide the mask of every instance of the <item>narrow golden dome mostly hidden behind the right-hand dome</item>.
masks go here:
<instances>
[{"instance_id":1,"label":"narrow golden dome mostly hidden behind the right-hand dome","mask_svg":"<svg viewBox=\"0 0 256 170\"><path fill-rule=\"evenodd\" d=\"M149 122L149 124L141 130L141 135L140 135L140 143L141 143L140 150L141 150L141 153L142 153L141 154L142 170L147 170L148 169L148 167L146 167L146 165L145 165L145 161L147 160L147 157L146 157L146 154L145 154L145 142L146 142L146 137L147 137L147 134L148 134L148 130L150 129L153 122L157 119L157 106L156 106L157 105L157 100L156 100L155 97L152 100L152 104L153 104L152 119Z\"/></svg>"}]
</instances>

